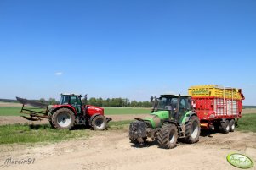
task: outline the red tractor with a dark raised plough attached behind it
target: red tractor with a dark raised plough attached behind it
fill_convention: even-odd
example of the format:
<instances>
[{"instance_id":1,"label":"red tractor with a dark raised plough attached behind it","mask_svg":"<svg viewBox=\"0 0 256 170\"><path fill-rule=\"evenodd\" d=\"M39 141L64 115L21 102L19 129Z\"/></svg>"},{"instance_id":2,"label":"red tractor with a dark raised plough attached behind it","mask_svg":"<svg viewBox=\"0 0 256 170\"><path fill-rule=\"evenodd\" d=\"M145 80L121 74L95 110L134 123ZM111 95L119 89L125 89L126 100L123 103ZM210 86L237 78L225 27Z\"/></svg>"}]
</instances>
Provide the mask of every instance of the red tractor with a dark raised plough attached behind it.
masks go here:
<instances>
[{"instance_id":1,"label":"red tractor with a dark raised plough attached behind it","mask_svg":"<svg viewBox=\"0 0 256 170\"><path fill-rule=\"evenodd\" d=\"M84 96L85 100L87 96ZM49 123L55 129L72 129L76 124L89 125L94 130L104 130L111 118L105 118L104 108L90 105L82 105L82 96L75 94L61 94L60 104L48 109L48 105L36 101L29 101L16 97L23 104L21 113L30 115L31 121L48 118ZM40 108L41 110L24 108L25 105ZM42 111L42 109L44 109Z\"/></svg>"}]
</instances>

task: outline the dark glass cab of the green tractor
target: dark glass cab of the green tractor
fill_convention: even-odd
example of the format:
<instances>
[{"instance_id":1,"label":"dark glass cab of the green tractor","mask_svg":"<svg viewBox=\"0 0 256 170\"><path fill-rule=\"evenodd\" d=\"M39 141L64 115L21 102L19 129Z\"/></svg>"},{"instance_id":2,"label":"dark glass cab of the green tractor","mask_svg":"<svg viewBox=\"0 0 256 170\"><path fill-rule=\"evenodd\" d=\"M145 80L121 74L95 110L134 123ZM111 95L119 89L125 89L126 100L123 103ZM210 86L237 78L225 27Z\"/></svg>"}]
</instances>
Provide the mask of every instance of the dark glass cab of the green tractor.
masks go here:
<instances>
[{"instance_id":1,"label":"dark glass cab of the green tractor","mask_svg":"<svg viewBox=\"0 0 256 170\"><path fill-rule=\"evenodd\" d=\"M161 95L155 99L152 112L168 111L169 118L173 118L179 123L184 118L185 113L191 109L190 96Z\"/></svg>"}]
</instances>

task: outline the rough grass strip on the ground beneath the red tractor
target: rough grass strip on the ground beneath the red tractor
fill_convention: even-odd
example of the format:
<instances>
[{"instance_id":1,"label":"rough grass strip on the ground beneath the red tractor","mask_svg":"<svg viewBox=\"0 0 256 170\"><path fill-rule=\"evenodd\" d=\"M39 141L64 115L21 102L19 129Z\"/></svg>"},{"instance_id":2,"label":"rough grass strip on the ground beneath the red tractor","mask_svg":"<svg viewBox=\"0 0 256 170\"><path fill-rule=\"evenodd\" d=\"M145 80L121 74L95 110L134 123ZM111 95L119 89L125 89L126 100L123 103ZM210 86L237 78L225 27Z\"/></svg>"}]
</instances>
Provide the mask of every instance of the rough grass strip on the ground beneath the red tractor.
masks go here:
<instances>
[{"instance_id":1,"label":"rough grass strip on the ground beneath the red tractor","mask_svg":"<svg viewBox=\"0 0 256 170\"><path fill-rule=\"evenodd\" d=\"M131 121L109 123L109 130L124 129ZM49 124L9 124L0 126L0 145L14 143L58 142L78 138L88 138L95 133L90 129L77 127L75 130L52 129Z\"/></svg>"}]
</instances>

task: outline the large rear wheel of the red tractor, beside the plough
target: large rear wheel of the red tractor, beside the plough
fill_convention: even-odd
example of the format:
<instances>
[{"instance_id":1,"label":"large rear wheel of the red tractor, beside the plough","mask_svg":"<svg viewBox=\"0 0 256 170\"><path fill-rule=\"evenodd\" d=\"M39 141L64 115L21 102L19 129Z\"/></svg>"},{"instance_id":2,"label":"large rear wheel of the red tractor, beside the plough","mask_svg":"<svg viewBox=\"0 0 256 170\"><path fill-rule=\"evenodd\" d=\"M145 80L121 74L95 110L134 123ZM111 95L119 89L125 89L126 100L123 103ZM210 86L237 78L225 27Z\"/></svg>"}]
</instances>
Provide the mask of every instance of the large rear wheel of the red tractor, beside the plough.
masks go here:
<instances>
[{"instance_id":1,"label":"large rear wheel of the red tractor, beside the plough","mask_svg":"<svg viewBox=\"0 0 256 170\"><path fill-rule=\"evenodd\" d=\"M60 108L53 113L51 120L55 129L72 129L75 125L75 115L68 108Z\"/></svg>"}]
</instances>

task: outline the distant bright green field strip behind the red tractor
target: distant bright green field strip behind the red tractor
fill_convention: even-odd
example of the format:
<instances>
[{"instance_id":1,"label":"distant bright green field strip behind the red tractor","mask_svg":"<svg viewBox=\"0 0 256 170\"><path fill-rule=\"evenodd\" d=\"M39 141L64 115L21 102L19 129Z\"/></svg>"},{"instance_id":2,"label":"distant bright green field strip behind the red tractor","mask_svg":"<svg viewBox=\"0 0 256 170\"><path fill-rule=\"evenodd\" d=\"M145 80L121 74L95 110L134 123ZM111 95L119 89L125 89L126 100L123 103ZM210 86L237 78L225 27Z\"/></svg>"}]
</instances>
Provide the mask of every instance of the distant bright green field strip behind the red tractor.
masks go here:
<instances>
[{"instance_id":1,"label":"distant bright green field strip behind the red tractor","mask_svg":"<svg viewBox=\"0 0 256 170\"><path fill-rule=\"evenodd\" d=\"M104 107L105 115L149 114L150 108ZM21 107L0 107L0 116L20 116Z\"/></svg>"}]
</instances>

